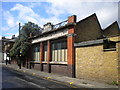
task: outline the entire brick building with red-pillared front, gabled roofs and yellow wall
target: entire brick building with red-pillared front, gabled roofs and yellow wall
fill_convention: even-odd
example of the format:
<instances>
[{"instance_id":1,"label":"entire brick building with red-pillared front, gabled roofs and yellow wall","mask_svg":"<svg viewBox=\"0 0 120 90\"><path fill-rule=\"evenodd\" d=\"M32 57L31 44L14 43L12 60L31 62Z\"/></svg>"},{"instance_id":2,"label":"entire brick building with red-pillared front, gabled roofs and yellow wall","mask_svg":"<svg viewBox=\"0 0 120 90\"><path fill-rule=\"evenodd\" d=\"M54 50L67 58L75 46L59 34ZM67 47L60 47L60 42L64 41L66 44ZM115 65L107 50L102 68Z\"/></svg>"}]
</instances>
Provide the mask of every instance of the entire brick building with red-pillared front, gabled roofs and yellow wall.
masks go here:
<instances>
[{"instance_id":1,"label":"entire brick building with red-pillared front, gabled roofs and yellow wall","mask_svg":"<svg viewBox=\"0 0 120 90\"><path fill-rule=\"evenodd\" d=\"M56 25L47 23L31 37L30 68L82 79L118 82L117 22L102 29L96 14L76 22L76 16Z\"/></svg>"}]
</instances>

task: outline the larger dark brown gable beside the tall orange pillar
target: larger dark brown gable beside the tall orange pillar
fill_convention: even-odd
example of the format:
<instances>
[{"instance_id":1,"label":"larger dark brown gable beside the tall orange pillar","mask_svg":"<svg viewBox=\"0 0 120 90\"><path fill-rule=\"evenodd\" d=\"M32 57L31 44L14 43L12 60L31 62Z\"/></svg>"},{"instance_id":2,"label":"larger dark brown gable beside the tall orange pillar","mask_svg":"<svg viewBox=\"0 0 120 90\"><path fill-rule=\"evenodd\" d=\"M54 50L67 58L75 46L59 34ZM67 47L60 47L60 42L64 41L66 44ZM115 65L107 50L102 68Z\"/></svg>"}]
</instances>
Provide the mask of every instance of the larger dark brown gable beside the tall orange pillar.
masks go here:
<instances>
[{"instance_id":1,"label":"larger dark brown gable beside the tall orange pillar","mask_svg":"<svg viewBox=\"0 0 120 90\"><path fill-rule=\"evenodd\" d=\"M92 14L77 22L75 42L97 40L102 38L101 26L96 14Z\"/></svg>"}]
</instances>

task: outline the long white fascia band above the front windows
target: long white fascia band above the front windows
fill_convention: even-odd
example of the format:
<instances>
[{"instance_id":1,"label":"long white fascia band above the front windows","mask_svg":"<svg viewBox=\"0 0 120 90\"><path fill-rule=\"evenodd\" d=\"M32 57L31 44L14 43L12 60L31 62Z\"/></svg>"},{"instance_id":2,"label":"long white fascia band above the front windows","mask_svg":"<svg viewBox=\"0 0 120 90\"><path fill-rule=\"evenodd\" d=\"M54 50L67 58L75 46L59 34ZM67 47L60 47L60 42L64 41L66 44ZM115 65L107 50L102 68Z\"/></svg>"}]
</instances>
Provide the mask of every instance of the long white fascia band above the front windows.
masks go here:
<instances>
[{"instance_id":1,"label":"long white fascia band above the front windows","mask_svg":"<svg viewBox=\"0 0 120 90\"><path fill-rule=\"evenodd\" d=\"M59 32L56 32L56 33L49 34L48 36L43 36L42 38L34 39L34 40L32 40L32 44L42 42L42 41L51 40L51 39L55 39L55 38L59 38L59 37L62 37L62 36L66 36L67 34L68 34L68 30L65 29L62 32L59 31Z\"/></svg>"}]
</instances>

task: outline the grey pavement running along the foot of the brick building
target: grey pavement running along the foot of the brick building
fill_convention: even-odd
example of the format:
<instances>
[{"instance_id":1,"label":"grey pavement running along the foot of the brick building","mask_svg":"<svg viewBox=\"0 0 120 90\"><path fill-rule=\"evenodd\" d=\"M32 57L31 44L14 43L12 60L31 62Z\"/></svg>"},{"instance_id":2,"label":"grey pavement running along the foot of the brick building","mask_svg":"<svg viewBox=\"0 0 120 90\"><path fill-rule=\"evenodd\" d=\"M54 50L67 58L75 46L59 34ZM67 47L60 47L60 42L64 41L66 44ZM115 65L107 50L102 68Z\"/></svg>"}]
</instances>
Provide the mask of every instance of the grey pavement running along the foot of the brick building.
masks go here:
<instances>
[{"instance_id":1,"label":"grey pavement running along the foot of the brick building","mask_svg":"<svg viewBox=\"0 0 120 90\"><path fill-rule=\"evenodd\" d=\"M71 78L71 77L61 76L61 75L57 75L53 73L41 72L41 71L34 70L34 69L27 69L25 67L22 67L21 69L19 69L19 67L14 64L5 65L3 63L2 66L8 67L8 68L11 68L11 69L14 69L16 71L23 72L26 74L31 74L39 78L47 79L50 81L54 81L54 82L58 82L58 83L66 84L66 85L71 85L74 88L114 88L114 89L118 89L118 86L116 85L109 85L106 83L101 83L101 82L96 82L96 81Z\"/></svg>"}]
</instances>

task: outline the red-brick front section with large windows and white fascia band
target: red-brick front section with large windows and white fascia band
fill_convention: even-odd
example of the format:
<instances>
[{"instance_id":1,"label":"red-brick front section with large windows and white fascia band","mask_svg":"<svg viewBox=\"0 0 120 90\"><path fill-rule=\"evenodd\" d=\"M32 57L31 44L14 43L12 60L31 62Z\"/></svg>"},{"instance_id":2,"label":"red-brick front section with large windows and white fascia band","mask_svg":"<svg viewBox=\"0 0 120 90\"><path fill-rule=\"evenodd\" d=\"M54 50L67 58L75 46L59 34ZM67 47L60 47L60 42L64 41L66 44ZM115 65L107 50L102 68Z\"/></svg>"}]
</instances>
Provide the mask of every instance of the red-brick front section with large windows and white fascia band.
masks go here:
<instances>
[{"instance_id":1,"label":"red-brick front section with large windows and white fascia band","mask_svg":"<svg viewBox=\"0 0 120 90\"><path fill-rule=\"evenodd\" d=\"M31 68L75 77L75 25L75 15L44 25L43 33L31 39Z\"/></svg>"}]
</instances>

